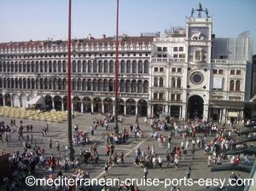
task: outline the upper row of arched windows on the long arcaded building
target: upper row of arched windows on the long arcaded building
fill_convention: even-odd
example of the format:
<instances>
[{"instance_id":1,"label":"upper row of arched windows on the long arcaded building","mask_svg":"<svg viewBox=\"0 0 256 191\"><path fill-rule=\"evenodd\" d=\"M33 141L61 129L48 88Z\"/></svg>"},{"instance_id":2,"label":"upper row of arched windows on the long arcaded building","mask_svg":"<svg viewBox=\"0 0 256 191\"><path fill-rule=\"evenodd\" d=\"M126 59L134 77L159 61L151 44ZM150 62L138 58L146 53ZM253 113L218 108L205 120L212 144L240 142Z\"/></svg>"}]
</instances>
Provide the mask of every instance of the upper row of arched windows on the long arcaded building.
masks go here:
<instances>
[{"instance_id":1,"label":"upper row of arched windows on the long arcaded building","mask_svg":"<svg viewBox=\"0 0 256 191\"><path fill-rule=\"evenodd\" d=\"M148 73L148 61L119 61L120 73ZM114 61L73 61L73 72L112 73ZM0 62L0 72L67 72L67 61Z\"/></svg>"}]
</instances>

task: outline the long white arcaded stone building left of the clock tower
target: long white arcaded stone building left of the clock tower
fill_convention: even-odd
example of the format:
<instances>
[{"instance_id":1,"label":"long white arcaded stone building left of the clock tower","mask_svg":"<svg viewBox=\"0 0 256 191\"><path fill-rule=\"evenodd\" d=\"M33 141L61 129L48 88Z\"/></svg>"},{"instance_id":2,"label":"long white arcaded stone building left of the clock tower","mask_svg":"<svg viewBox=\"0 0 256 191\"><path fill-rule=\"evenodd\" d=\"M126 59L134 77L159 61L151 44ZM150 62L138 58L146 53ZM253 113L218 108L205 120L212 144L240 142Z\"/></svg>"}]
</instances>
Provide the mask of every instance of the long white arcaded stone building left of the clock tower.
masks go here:
<instances>
[{"instance_id":1,"label":"long white arcaded stone building left of the clock tower","mask_svg":"<svg viewBox=\"0 0 256 191\"><path fill-rule=\"evenodd\" d=\"M73 111L114 112L113 39L73 40ZM119 113L148 115L152 39L120 38ZM67 110L67 42L1 43L0 73L0 105L27 107L42 95L47 109Z\"/></svg>"}]
</instances>

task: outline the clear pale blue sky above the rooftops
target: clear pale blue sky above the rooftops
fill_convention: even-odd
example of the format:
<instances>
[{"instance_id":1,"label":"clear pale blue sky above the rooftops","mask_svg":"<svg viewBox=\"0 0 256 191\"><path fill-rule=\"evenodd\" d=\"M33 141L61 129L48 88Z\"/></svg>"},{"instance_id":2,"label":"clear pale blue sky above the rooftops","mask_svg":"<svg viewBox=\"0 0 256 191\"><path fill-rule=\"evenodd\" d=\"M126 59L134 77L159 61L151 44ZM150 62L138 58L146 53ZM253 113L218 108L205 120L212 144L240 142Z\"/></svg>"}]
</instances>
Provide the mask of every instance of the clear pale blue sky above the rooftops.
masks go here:
<instances>
[{"instance_id":1,"label":"clear pale blue sky above the rooftops","mask_svg":"<svg viewBox=\"0 0 256 191\"><path fill-rule=\"evenodd\" d=\"M161 32L185 26L200 0L119 0L119 33ZM201 0L216 37L249 30L256 54L255 0ZM67 39L68 0L0 0L0 42ZM73 38L115 34L116 0L73 0Z\"/></svg>"}]
</instances>

